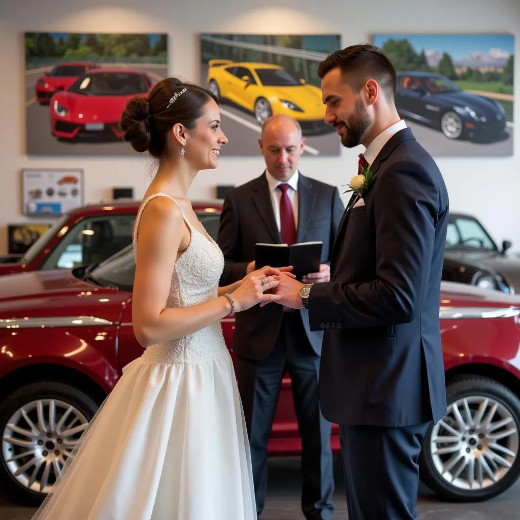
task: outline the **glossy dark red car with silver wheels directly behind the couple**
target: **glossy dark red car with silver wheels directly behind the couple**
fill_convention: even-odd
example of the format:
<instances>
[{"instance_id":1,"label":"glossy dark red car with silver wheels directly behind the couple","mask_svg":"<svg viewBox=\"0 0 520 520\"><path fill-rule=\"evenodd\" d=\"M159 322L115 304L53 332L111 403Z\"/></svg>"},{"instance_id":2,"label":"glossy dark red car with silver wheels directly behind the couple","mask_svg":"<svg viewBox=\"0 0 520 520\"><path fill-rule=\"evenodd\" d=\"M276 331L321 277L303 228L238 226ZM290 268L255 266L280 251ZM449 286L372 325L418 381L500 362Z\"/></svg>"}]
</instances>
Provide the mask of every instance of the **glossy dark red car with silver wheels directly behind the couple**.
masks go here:
<instances>
[{"instance_id":1,"label":"glossy dark red car with silver wheels directly behind the couple","mask_svg":"<svg viewBox=\"0 0 520 520\"><path fill-rule=\"evenodd\" d=\"M206 215L217 227L218 216ZM51 490L122 368L143 352L132 329L134 271L127 246L97 266L0 278L0 478L24 503ZM430 428L420 465L444 498L484 500L520 474L519 315L519 296L443 282L448 410ZM222 320L231 351L234 323ZM337 451L335 425L331 442ZM286 377L269 452L300 449Z\"/></svg>"}]
</instances>

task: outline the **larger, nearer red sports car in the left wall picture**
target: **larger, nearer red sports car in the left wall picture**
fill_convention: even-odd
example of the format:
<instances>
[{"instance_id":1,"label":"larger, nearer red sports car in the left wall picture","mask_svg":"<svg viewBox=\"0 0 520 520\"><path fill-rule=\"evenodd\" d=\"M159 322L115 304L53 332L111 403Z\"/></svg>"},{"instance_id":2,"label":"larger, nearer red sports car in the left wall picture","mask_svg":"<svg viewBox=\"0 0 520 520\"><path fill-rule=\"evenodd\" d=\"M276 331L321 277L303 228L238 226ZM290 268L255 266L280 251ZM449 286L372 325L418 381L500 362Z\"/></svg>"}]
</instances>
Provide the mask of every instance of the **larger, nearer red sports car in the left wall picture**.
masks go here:
<instances>
[{"instance_id":1,"label":"larger, nearer red sports car in the left wall picture","mask_svg":"<svg viewBox=\"0 0 520 520\"><path fill-rule=\"evenodd\" d=\"M148 96L154 84L151 76L140 70L91 70L51 99L51 132L61 139L73 139L78 134L120 137L119 121L127 99Z\"/></svg>"}]
</instances>

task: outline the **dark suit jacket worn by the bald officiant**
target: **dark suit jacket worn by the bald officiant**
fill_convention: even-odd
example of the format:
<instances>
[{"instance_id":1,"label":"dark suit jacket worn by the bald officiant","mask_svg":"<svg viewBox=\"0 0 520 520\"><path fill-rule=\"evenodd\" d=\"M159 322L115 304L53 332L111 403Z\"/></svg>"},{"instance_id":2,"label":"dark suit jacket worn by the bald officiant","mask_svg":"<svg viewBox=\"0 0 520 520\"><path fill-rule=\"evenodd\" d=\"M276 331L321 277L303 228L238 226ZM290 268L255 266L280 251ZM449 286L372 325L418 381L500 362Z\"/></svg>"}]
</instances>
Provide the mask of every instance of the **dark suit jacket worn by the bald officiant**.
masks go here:
<instances>
[{"instance_id":1,"label":"dark suit jacket worn by the bald officiant","mask_svg":"<svg viewBox=\"0 0 520 520\"><path fill-rule=\"evenodd\" d=\"M296 242L321 240L321 263L329 263L332 245L344 211L336 187L298 175L298 227ZM226 192L218 244L225 258L221 285L245 276L255 259L255 243L283 243L272 209L271 195L264 174ZM256 266L260 268L262 266ZM282 322L278 304L255 305L236 316L233 351L252 360L266 359L271 353ZM315 353L320 355L323 332L311 332L307 310L301 310L305 332Z\"/></svg>"}]
</instances>

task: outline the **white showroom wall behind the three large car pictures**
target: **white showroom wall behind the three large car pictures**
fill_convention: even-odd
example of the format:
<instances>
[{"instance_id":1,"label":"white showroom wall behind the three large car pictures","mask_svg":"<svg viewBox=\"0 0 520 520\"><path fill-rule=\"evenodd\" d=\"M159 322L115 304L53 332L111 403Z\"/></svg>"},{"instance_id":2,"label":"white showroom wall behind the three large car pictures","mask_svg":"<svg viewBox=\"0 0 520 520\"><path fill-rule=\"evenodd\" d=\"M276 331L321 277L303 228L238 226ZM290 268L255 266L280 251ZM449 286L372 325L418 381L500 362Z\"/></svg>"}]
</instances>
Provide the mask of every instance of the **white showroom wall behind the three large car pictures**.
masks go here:
<instances>
[{"instance_id":1,"label":"white showroom wall behind the three large car pictures","mask_svg":"<svg viewBox=\"0 0 520 520\"><path fill-rule=\"evenodd\" d=\"M261 4L258 7L258 4ZM409 21L405 21L409 20ZM109 199L112 186L134 186L141 197L150 180L145 159L38 158L25 152L24 31L163 32L170 35L170 74L199 81L201 32L339 33L344 46L370 40L376 32L515 33L515 96L520 99L520 2L518 0L2 0L0 2L0 254L6 252L7 223L20 214L20 168L81 167L85 200ZM515 121L520 109L515 105ZM439 158L453 211L482 218L499 241L520 249L519 132L513 157ZM301 170L341 186L356 170L360 150L334 158L302 158ZM220 159L216 171L201 172L192 198L213 196L216 184L241 184L262 172L261 157Z\"/></svg>"}]
</instances>

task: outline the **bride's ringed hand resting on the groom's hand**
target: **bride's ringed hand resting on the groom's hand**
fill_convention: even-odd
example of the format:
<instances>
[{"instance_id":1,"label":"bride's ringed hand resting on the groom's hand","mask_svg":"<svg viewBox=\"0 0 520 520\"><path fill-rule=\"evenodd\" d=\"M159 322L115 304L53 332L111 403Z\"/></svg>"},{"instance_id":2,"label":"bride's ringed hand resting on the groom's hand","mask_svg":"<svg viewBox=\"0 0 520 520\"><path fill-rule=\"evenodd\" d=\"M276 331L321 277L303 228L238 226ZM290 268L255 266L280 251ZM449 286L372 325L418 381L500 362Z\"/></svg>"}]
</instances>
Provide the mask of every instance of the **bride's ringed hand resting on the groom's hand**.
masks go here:
<instances>
[{"instance_id":1,"label":"bride's ringed hand resting on the groom's hand","mask_svg":"<svg viewBox=\"0 0 520 520\"><path fill-rule=\"evenodd\" d=\"M235 302L235 312L246 310L260 302L276 302L281 296L269 294L271 289L278 287L279 277L290 275L289 272L271 267L264 267L245 276L240 287L231 293Z\"/></svg>"}]
</instances>

